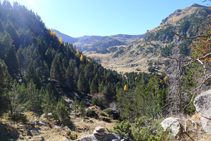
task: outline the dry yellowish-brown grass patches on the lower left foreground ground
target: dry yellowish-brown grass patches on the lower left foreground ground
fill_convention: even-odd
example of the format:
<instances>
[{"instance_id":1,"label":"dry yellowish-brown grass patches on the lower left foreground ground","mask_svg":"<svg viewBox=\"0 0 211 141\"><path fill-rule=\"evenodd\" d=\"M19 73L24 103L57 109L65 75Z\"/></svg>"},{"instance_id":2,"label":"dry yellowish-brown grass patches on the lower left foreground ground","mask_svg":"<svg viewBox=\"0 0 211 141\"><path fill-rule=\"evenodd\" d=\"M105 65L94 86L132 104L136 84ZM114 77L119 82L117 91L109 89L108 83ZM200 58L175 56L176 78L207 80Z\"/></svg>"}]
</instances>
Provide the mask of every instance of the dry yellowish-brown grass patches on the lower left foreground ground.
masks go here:
<instances>
[{"instance_id":1,"label":"dry yellowish-brown grass patches on the lower left foreground ground","mask_svg":"<svg viewBox=\"0 0 211 141\"><path fill-rule=\"evenodd\" d=\"M102 112L99 107L93 106L93 109L96 110L96 113L100 114ZM27 119L29 120L30 123L34 122L35 119L41 121L41 120L47 120L46 118L41 118L37 114L27 111L24 112L24 114L27 116ZM104 113L106 115L106 113ZM16 130L19 134L22 134L22 132L26 131L29 129L28 126L30 125L23 125L21 123L14 124L10 120L8 120L7 116L3 116L0 118L0 132L10 132ZM99 118L100 119L100 118ZM53 122L53 119L48 119L49 121ZM102 126L108 129L113 129L113 126L115 125L115 121L111 120L110 123L106 123L101 120L97 120L94 118L89 118L89 120L92 120L93 123L90 122L85 122L82 120L82 118L74 118L71 117L71 120L74 123L74 126L76 127L75 131L72 131L72 134L77 134L78 138L84 137L86 135L92 134L95 127ZM31 128L31 127L30 127ZM65 140L65 135L68 130L70 130L68 127L64 127L64 129L54 129L50 128L48 126L39 126L35 125L34 128L39 128L40 130L40 135L38 136L43 136L46 141L64 141ZM82 129L82 130L81 130ZM88 129L88 130L84 130ZM17 139L17 141L22 141L22 140L31 140L33 137L31 136L22 136Z\"/></svg>"}]
</instances>

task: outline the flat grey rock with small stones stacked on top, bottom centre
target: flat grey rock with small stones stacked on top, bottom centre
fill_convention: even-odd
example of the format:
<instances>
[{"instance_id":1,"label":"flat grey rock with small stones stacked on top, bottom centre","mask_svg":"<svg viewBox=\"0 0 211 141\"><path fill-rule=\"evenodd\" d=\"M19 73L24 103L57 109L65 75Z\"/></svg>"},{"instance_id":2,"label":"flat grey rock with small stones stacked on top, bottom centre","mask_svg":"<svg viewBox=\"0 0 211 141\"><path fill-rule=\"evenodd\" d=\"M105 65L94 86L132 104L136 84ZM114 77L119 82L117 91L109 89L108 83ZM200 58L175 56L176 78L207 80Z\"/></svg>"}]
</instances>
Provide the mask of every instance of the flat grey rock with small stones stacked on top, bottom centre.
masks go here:
<instances>
[{"instance_id":1,"label":"flat grey rock with small stones stacked on top, bottom centre","mask_svg":"<svg viewBox=\"0 0 211 141\"><path fill-rule=\"evenodd\" d=\"M66 139L65 141L71 141ZM74 141L132 141L128 137L124 137L119 134L105 133L104 127L96 127L93 134L82 137Z\"/></svg>"}]
</instances>

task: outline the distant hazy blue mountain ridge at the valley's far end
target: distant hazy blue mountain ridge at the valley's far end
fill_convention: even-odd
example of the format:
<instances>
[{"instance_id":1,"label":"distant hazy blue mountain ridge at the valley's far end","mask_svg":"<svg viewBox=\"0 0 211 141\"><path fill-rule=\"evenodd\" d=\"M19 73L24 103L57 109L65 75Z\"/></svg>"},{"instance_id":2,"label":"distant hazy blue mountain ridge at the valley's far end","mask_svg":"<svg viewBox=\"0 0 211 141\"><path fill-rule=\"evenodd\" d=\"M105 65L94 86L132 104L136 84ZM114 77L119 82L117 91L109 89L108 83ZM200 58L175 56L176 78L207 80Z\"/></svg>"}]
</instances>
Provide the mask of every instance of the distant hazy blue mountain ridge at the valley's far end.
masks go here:
<instances>
[{"instance_id":1,"label":"distant hazy blue mountain ridge at the valley's far end","mask_svg":"<svg viewBox=\"0 0 211 141\"><path fill-rule=\"evenodd\" d=\"M141 39L143 35L126 35L118 34L112 36L83 36L73 38L66 34L53 29L57 33L58 37L62 37L64 42L73 43L77 49L83 52L95 52L108 53L107 48L118 45L128 45Z\"/></svg>"}]
</instances>

